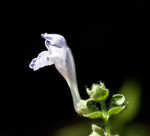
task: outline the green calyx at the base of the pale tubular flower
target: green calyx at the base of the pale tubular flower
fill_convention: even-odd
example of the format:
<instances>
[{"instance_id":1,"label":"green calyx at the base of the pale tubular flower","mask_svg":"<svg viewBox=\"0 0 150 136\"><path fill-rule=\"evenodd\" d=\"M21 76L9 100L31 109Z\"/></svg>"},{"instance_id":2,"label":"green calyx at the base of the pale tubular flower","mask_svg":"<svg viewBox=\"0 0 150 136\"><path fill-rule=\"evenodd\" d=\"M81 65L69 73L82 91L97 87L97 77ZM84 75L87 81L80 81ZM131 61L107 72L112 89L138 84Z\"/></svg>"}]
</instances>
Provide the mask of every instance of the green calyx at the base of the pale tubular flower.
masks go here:
<instances>
[{"instance_id":1,"label":"green calyx at the base of the pale tubular flower","mask_svg":"<svg viewBox=\"0 0 150 136\"><path fill-rule=\"evenodd\" d=\"M96 106L96 102L92 99L81 100L79 113L90 119L102 118L102 112Z\"/></svg>"}]
</instances>

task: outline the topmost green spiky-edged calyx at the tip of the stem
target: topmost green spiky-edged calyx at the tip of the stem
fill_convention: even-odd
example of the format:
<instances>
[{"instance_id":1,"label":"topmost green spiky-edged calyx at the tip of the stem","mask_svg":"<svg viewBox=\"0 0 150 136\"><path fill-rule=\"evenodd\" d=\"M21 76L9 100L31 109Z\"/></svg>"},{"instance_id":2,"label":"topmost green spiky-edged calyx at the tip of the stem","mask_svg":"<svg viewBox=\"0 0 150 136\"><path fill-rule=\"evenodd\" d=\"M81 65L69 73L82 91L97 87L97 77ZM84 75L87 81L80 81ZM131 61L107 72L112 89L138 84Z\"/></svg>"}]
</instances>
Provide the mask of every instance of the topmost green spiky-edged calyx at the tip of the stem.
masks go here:
<instances>
[{"instance_id":1,"label":"topmost green spiky-edged calyx at the tip of the stem","mask_svg":"<svg viewBox=\"0 0 150 136\"><path fill-rule=\"evenodd\" d=\"M87 94L97 102L104 101L109 95L109 90L103 83L93 84L91 89L86 88Z\"/></svg>"}]
</instances>

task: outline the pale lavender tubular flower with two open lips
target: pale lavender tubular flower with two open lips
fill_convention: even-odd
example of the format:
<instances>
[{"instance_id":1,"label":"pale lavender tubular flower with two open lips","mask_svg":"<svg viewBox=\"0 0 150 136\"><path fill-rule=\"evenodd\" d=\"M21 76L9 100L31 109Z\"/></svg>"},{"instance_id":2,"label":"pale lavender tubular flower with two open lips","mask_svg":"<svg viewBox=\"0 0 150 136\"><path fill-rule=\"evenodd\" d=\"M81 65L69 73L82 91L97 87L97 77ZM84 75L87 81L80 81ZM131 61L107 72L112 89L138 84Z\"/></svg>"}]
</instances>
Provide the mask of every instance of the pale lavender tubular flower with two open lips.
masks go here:
<instances>
[{"instance_id":1,"label":"pale lavender tubular flower with two open lips","mask_svg":"<svg viewBox=\"0 0 150 136\"><path fill-rule=\"evenodd\" d=\"M76 111L79 109L80 95L78 92L74 59L66 40L59 34L41 34L45 39L46 51L34 58L29 67L34 71L52 64L67 81Z\"/></svg>"}]
</instances>

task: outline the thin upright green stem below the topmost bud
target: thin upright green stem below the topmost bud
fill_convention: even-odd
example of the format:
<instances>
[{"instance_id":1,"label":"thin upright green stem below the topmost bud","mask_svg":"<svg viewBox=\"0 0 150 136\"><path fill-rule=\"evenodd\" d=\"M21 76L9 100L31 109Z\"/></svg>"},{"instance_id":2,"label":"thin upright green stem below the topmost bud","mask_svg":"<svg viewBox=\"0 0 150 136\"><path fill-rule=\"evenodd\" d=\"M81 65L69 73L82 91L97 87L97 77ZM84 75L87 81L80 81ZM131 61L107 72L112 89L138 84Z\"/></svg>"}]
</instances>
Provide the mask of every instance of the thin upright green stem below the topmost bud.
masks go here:
<instances>
[{"instance_id":1,"label":"thin upright green stem below the topmost bud","mask_svg":"<svg viewBox=\"0 0 150 136\"><path fill-rule=\"evenodd\" d=\"M105 101L101 101L100 105L101 105L101 109L102 109L102 113L103 113L103 119L105 122L105 132L106 132L105 135L110 136L110 126L109 126L109 121L108 121L109 117L108 117Z\"/></svg>"}]
</instances>

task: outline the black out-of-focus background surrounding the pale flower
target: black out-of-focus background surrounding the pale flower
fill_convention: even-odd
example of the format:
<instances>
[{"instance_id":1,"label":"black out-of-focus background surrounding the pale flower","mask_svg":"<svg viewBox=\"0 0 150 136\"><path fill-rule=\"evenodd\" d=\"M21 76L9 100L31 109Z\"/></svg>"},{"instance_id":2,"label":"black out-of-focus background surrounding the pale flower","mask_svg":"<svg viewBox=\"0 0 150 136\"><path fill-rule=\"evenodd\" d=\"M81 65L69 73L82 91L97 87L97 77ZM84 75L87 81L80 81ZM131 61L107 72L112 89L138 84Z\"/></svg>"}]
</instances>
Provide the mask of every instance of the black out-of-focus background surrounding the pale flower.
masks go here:
<instances>
[{"instance_id":1,"label":"black out-of-focus background surrounding the pale flower","mask_svg":"<svg viewBox=\"0 0 150 136\"><path fill-rule=\"evenodd\" d=\"M7 32L13 41L8 44L6 38L8 55L3 56L0 136L47 136L56 124L80 119L70 90L55 67L36 72L28 67L46 49L40 37L45 32L66 38L82 98L87 98L85 87L93 82L103 81L113 94L124 81L137 80L142 86L142 109L136 120L149 124L149 24L144 1L105 6L38 4L22 3L14 13L17 16L10 19Z\"/></svg>"}]
</instances>

